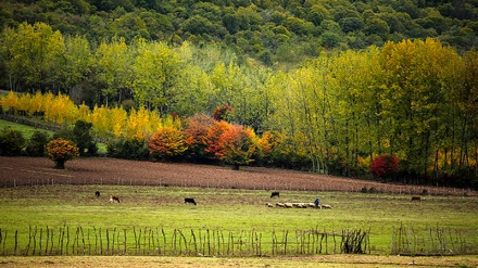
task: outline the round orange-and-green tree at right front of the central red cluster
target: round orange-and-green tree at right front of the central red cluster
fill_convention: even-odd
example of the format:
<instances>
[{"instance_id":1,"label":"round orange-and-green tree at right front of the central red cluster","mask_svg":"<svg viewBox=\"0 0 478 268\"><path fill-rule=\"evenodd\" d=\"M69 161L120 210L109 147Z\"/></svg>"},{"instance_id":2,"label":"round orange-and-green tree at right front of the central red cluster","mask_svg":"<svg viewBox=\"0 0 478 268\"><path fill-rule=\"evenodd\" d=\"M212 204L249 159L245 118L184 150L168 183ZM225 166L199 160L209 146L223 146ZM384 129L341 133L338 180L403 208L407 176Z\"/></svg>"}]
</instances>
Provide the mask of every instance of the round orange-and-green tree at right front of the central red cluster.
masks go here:
<instances>
[{"instance_id":1,"label":"round orange-and-green tree at right front of the central red cluster","mask_svg":"<svg viewBox=\"0 0 478 268\"><path fill-rule=\"evenodd\" d=\"M224 131L218 139L217 158L239 169L241 165L251 163L255 152L255 133L251 128L234 125Z\"/></svg>"}]
</instances>

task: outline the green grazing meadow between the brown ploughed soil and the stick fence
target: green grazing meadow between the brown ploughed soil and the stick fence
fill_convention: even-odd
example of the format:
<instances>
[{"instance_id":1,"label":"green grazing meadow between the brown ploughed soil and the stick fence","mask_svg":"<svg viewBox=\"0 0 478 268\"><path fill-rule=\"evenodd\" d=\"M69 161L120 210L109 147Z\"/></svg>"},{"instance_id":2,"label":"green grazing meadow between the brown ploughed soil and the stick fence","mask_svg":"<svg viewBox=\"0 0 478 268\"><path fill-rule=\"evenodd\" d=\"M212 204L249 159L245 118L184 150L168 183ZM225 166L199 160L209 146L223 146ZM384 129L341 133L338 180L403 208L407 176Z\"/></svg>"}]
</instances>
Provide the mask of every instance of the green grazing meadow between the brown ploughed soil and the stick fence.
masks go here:
<instances>
[{"instance_id":1,"label":"green grazing meadow between the brown ploughed soil and the stick fence","mask_svg":"<svg viewBox=\"0 0 478 268\"><path fill-rule=\"evenodd\" d=\"M95 191L100 191L100 197ZM109 202L109 194L121 203ZM266 202L313 202L320 196L332 209L266 207ZM184 204L194 197L198 205ZM20 247L28 240L29 228L72 229L152 228L172 233L222 231L261 233L264 243L271 234L285 231L294 240L298 230L340 233L369 230L370 253L390 254L392 230L445 228L466 230L469 243L478 244L478 200L476 197L425 196L411 202L408 195L344 192L281 192L271 200L262 190L173 188L140 186L34 186L0 189L0 228L10 235L18 231ZM128 235L133 232L128 231ZM134 239L129 238L133 242ZM7 243L13 243L8 240ZM133 245L131 245L133 246Z\"/></svg>"}]
</instances>

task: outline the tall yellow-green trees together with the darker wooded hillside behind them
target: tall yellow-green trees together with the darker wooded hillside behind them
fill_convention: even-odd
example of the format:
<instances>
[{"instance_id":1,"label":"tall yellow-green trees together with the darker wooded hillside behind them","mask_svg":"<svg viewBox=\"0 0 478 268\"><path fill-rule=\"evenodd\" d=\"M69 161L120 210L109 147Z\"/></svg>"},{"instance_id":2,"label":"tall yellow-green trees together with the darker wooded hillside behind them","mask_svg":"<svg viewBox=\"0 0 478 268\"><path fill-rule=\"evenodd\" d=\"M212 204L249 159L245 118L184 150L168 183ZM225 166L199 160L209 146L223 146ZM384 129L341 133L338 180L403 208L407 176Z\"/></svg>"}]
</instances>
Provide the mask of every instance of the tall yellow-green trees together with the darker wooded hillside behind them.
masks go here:
<instances>
[{"instance_id":1,"label":"tall yellow-green trees together with the darker wooded hillside behind them","mask_svg":"<svg viewBox=\"0 0 478 268\"><path fill-rule=\"evenodd\" d=\"M382 180L477 188L476 5L2 1L0 87L185 122L227 104L267 140L256 165L372 178L390 155Z\"/></svg>"}]
</instances>

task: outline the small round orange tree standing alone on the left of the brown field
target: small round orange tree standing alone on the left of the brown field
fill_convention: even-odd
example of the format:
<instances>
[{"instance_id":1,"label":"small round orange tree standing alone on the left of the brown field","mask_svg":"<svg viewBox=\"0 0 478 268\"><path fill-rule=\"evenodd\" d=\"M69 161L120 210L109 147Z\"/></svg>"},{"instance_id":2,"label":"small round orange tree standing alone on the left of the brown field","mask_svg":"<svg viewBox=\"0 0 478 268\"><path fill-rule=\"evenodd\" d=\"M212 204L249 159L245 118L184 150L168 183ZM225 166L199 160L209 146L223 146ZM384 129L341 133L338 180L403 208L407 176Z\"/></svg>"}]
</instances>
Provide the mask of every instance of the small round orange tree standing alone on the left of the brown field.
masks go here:
<instances>
[{"instance_id":1,"label":"small round orange tree standing alone on the left of the brown field","mask_svg":"<svg viewBox=\"0 0 478 268\"><path fill-rule=\"evenodd\" d=\"M75 143L60 138L47 144L47 154L56 164L55 168L64 169L65 162L79 156L79 151Z\"/></svg>"}]
</instances>

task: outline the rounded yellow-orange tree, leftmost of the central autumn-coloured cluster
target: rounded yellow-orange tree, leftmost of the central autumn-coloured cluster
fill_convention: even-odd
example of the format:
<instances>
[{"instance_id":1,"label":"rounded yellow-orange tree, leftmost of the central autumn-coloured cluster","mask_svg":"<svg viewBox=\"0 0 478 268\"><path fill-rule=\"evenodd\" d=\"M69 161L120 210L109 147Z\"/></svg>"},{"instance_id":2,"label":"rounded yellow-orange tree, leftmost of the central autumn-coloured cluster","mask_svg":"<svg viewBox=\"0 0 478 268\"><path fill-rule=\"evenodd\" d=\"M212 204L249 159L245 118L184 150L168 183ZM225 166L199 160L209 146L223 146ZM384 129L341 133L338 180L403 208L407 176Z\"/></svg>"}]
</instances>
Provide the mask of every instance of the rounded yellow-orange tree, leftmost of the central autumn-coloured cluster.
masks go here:
<instances>
[{"instance_id":1,"label":"rounded yellow-orange tree, leftmost of the central autumn-coloured cluster","mask_svg":"<svg viewBox=\"0 0 478 268\"><path fill-rule=\"evenodd\" d=\"M151 136L148 142L150 155L155 159L172 159L180 156L188 146L185 136L174 127L165 127Z\"/></svg>"}]
</instances>

